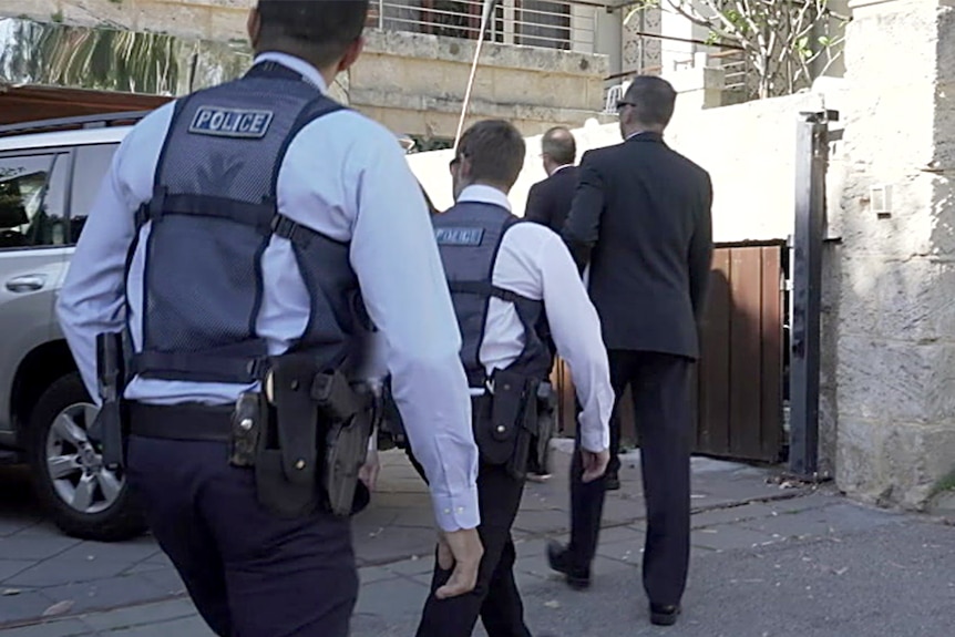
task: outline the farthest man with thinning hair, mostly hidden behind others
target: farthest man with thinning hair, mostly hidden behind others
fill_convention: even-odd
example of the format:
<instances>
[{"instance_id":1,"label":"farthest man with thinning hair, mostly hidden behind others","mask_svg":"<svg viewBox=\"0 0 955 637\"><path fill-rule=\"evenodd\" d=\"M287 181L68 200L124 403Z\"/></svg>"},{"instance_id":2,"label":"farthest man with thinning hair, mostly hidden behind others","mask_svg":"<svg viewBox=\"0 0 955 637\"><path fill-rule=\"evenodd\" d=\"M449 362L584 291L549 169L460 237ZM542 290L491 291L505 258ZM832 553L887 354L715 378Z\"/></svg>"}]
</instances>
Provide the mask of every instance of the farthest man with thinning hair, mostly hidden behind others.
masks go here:
<instances>
[{"instance_id":1,"label":"farthest man with thinning hair, mostly hidden behind others","mask_svg":"<svg viewBox=\"0 0 955 637\"><path fill-rule=\"evenodd\" d=\"M531 186L524 218L561 233L577 189L577 166L574 165L577 144L574 134L564 126L555 126L544 133L541 138L541 160L547 178Z\"/></svg>"}]
</instances>

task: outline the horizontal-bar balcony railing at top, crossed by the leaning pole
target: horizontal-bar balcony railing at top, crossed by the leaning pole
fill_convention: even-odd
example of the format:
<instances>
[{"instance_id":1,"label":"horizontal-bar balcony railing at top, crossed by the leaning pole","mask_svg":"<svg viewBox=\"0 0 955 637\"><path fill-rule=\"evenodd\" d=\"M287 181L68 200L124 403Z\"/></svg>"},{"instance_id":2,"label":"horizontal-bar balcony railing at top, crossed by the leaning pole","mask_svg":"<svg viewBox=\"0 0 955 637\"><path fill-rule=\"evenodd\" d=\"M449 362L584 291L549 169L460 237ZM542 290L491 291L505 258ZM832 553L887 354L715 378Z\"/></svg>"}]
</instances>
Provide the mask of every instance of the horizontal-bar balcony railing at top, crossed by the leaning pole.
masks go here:
<instances>
[{"instance_id":1,"label":"horizontal-bar balcony railing at top, crossed by the leaning pole","mask_svg":"<svg viewBox=\"0 0 955 637\"><path fill-rule=\"evenodd\" d=\"M476 40L483 0L372 0L368 25ZM497 0L487 41L594 52L598 9L573 0Z\"/></svg>"}]
</instances>

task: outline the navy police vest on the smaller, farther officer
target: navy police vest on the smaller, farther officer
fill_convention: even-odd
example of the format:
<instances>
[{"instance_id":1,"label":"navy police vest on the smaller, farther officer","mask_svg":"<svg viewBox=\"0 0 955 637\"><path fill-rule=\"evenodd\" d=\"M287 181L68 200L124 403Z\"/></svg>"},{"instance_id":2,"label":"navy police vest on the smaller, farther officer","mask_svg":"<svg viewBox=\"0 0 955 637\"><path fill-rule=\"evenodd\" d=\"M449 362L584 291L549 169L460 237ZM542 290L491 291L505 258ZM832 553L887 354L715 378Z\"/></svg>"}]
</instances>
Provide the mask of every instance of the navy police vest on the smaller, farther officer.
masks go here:
<instances>
[{"instance_id":1,"label":"navy police vest on the smaller, farther officer","mask_svg":"<svg viewBox=\"0 0 955 637\"><path fill-rule=\"evenodd\" d=\"M444 273L461 330L461 360L472 388L484 388L487 374L480 360L492 298L514 305L524 327L524 349L507 369L544 380L553 359L545 345L546 315L541 300L493 285L494 263L504 234L521 223L494 204L464 202L431 217Z\"/></svg>"}]
</instances>

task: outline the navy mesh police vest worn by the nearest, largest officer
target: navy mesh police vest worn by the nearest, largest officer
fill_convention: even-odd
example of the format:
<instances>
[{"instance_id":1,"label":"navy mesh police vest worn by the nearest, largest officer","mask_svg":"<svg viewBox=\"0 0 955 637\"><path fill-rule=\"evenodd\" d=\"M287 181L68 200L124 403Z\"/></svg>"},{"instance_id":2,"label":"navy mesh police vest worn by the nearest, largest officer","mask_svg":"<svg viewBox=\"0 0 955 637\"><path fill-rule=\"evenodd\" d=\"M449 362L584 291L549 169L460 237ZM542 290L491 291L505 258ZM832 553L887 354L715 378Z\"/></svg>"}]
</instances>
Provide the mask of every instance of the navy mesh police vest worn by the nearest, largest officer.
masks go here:
<instances>
[{"instance_id":1,"label":"navy mesh police vest worn by the nearest, largest officer","mask_svg":"<svg viewBox=\"0 0 955 637\"><path fill-rule=\"evenodd\" d=\"M314 351L328 370L355 353L364 315L348 244L280 215L276 198L279 167L296 134L340 109L274 62L176 103L153 197L136 214L137 229L147 226L147 233L143 342L132 373L261 380L268 351L256 320L261 256L273 235L291 243L311 299L308 326L291 349Z\"/></svg>"}]
</instances>

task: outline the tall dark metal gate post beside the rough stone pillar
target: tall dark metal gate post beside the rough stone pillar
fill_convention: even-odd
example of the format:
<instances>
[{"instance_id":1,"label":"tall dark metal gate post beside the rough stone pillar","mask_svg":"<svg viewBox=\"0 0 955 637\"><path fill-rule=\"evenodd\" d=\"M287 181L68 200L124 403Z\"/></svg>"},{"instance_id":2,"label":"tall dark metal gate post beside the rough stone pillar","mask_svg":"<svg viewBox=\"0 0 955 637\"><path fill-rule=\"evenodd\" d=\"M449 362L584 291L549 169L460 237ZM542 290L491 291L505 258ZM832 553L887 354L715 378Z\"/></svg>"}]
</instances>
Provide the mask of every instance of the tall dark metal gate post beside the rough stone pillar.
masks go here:
<instances>
[{"instance_id":1,"label":"tall dark metal gate post beside the rough stone pillar","mask_svg":"<svg viewBox=\"0 0 955 637\"><path fill-rule=\"evenodd\" d=\"M789 469L799 477L815 479L819 470L819 347L825 169L829 164L829 122L838 122L839 113L800 113L800 120L795 141Z\"/></svg>"}]
</instances>

